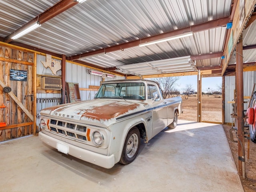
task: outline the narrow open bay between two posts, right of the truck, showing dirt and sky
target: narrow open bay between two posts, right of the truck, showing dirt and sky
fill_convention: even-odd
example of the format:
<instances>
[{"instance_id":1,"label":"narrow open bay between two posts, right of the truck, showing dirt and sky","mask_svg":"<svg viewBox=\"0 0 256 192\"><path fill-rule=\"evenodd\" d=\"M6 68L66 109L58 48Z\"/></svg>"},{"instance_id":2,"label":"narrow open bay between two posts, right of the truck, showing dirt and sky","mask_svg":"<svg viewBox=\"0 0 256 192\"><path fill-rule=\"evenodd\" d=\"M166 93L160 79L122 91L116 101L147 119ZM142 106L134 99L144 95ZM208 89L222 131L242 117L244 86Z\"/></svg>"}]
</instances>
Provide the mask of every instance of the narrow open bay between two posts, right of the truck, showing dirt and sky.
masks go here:
<instances>
[{"instance_id":1,"label":"narrow open bay between two posts, right of the truck, showing dirt and sky","mask_svg":"<svg viewBox=\"0 0 256 192\"><path fill-rule=\"evenodd\" d=\"M222 77L202 78L202 121L222 122Z\"/></svg>"}]
</instances>

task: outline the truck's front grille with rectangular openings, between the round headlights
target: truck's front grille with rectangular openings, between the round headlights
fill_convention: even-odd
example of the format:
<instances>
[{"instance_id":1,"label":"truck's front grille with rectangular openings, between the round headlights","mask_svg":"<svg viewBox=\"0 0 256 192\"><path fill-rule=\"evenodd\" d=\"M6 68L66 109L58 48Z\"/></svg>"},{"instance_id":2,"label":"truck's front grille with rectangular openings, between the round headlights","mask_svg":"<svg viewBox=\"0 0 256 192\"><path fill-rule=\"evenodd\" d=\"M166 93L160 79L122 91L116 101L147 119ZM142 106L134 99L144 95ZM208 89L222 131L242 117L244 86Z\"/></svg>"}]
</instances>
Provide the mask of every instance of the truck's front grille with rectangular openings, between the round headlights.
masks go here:
<instances>
[{"instance_id":1,"label":"truck's front grille with rectangular openings, between the round headlights","mask_svg":"<svg viewBox=\"0 0 256 192\"><path fill-rule=\"evenodd\" d=\"M59 120L50 120L50 131L62 134L62 136L76 138L81 141L90 141L90 129L86 126L72 124Z\"/></svg>"}]
</instances>

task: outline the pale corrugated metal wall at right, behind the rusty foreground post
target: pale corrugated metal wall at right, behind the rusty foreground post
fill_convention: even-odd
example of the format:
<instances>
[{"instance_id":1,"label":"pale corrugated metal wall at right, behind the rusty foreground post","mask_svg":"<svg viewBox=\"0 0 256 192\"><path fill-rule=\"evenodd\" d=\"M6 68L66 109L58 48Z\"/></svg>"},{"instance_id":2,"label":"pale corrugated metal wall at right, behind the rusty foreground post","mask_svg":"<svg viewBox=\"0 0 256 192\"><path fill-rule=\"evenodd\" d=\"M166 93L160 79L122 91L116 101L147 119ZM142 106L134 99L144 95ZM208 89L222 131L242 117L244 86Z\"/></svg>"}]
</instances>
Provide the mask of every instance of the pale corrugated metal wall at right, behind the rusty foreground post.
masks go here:
<instances>
[{"instance_id":1,"label":"pale corrugated metal wall at right, behind the rusty foreground post","mask_svg":"<svg viewBox=\"0 0 256 192\"><path fill-rule=\"evenodd\" d=\"M256 71L244 72L244 96L250 96L252 94L252 88L256 83ZM236 85L235 76L225 77L225 122L231 123L232 118L232 104L228 101L234 100L234 90ZM246 101L246 100L245 100ZM247 109L248 105L244 104L244 109Z\"/></svg>"}]
</instances>

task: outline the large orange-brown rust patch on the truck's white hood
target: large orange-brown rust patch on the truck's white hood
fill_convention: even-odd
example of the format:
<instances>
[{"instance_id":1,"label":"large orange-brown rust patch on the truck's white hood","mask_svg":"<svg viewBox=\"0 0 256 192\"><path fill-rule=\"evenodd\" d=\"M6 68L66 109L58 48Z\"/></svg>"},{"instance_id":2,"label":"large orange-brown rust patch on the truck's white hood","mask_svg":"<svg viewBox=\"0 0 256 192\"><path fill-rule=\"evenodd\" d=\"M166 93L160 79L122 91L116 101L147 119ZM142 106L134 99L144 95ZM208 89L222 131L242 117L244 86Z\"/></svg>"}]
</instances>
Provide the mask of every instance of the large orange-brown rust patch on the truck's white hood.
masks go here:
<instances>
[{"instance_id":1,"label":"large orange-brown rust patch on the truck's white hood","mask_svg":"<svg viewBox=\"0 0 256 192\"><path fill-rule=\"evenodd\" d=\"M82 117L92 118L95 120L110 120L131 110L134 110L139 106L139 104L134 103L124 104L120 102L114 102L103 106L97 106L91 110L86 110L82 114Z\"/></svg>"}]
</instances>

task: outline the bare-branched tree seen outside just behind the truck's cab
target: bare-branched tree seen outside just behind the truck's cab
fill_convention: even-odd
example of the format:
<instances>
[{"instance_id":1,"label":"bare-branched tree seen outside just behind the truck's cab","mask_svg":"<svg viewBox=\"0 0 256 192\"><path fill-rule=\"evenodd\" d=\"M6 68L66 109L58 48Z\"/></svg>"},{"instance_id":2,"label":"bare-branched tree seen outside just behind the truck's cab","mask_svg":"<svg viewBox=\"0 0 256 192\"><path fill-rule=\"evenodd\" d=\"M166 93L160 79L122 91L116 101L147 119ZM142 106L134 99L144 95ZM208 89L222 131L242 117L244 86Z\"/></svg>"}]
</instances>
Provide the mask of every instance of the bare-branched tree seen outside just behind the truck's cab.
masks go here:
<instances>
[{"instance_id":1,"label":"bare-branched tree seen outside just behind the truck's cab","mask_svg":"<svg viewBox=\"0 0 256 192\"><path fill-rule=\"evenodd\" d=\"M180 77L153 78L153 80L159 83L164 99L169 95L170 91L174 89L174 87L177 85L176 81L178 81L179 79Z\"/></svg>"}]
</instances>

